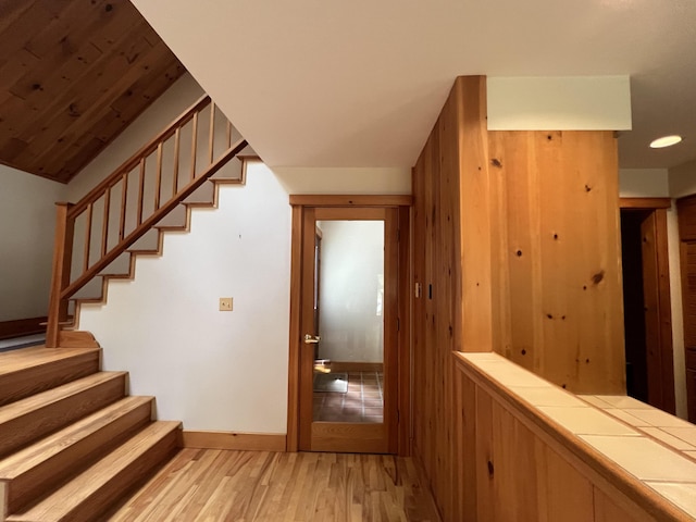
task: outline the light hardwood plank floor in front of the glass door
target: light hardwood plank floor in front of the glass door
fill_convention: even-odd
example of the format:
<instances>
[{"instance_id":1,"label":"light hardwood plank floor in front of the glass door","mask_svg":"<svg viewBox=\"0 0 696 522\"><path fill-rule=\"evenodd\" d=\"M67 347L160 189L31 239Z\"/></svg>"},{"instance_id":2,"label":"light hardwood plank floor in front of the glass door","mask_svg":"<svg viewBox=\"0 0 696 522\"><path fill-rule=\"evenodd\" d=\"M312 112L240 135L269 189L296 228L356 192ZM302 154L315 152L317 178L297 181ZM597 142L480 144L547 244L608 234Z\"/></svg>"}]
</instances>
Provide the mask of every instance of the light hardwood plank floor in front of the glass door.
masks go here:
<instances>
[{"instance_id":1,"label":"light hardwood plank floor in front of the glass door","mask_svg":"<svg viewBox=\"0 0 696 522\"><path fill-rule=\"evenodd\" d=\"M439 522L409 458L183 449L111 521Z\"/></svg>"}]
</instances>

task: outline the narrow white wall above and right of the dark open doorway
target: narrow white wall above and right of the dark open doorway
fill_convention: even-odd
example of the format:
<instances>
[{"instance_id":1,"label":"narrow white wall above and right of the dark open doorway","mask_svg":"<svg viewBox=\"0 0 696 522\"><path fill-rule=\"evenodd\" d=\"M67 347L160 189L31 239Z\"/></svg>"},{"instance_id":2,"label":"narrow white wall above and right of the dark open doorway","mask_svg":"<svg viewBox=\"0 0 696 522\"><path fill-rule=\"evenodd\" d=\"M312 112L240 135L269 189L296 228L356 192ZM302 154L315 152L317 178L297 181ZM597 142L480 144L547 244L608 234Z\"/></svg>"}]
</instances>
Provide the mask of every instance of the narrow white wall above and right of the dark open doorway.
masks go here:
<instances>
[{"instance_id":1,"label":"narrow white wall above and right of the dark open doorway","mask_svg":"<svg viewBox=\"0 0 696 522\"><path fill-rule=\"evenodd\" d=\"M671 172L667 169L622 169L619 171L619 195L622 198L669 198ZM676 414L685 419L687 411L682 286L676 206L673 201L672 208L667 211L667 237L672 312L672 348L674 353L674 396Z\"/></svg>"}]
</instances>

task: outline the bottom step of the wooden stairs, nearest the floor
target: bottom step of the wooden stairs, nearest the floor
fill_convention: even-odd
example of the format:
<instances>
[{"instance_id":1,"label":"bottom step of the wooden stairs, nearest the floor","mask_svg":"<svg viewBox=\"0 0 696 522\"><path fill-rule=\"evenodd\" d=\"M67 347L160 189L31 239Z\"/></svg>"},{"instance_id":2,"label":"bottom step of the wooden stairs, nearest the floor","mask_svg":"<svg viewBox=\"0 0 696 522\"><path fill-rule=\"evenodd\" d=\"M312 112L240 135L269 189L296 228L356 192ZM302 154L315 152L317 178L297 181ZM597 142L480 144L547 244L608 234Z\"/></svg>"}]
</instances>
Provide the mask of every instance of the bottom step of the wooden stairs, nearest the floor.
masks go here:
<instances>
[{"instance_id":1,"label":"bottom step of the wooden stairs, nearest the floor","mask_svg":"<svg viewBox=\"0 0 696 522\"><path fill-rule=\"evenodd\" d=\"M38 504L7 518L12 522L99 520L123 495L176 451L179 422L158 421Z\"/></svg>"}]
</instances>

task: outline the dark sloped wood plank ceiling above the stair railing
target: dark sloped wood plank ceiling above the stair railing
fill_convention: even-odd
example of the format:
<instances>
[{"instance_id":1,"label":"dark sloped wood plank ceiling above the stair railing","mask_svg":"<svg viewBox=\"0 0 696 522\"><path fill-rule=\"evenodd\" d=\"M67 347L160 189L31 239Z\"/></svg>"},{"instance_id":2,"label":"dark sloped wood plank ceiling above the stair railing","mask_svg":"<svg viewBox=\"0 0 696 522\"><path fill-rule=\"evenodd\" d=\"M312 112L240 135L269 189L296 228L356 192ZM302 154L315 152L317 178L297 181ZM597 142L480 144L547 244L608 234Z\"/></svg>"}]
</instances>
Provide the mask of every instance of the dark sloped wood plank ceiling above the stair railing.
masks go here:
<instances>
[{"instance_id":1,"label":"dark sloped wood plank ceiling above the stair railing","mask_svg":"<svg viewBox=\"0 0 696 522\"><path fill-rule=\"evenodd\" d=\"M67 183L184 72L128 0L0 0L0 163Z\"/></svg>"}]
</instances>

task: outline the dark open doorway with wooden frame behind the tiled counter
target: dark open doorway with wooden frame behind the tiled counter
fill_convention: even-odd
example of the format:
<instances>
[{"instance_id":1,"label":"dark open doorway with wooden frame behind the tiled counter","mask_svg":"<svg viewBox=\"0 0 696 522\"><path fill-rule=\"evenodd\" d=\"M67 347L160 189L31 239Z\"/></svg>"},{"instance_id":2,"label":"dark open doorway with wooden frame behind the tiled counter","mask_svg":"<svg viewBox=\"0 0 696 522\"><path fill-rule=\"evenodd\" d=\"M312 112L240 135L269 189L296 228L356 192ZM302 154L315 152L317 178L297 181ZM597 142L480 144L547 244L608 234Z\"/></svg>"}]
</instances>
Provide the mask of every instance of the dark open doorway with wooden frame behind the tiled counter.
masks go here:
<instances>
[{"instance_id":1,"label":"dark open doorway with wooden frame behind the tiled counter","mask_svg":"<svg viewBox=\"0 0 696 522\"><path fill-rule=\"evenodd\" d=\"M664 199L621 199L626 394L674 413Z\"/></svg>"}]
</instances>

